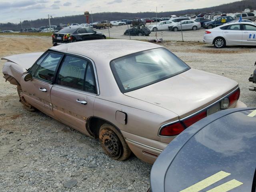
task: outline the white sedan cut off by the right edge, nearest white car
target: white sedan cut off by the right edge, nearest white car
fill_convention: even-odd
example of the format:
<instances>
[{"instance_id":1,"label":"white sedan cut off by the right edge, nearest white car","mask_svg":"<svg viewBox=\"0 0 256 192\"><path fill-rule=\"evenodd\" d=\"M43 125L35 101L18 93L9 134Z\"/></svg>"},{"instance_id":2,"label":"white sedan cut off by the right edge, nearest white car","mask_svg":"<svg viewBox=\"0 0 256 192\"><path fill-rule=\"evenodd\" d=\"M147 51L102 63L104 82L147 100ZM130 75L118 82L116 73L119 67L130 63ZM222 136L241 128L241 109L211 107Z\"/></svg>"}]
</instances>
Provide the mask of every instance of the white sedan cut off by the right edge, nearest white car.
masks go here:
<instances>
[{"instance_id":1,"label":"white sedan cut off by the right edge, nearest white car","mask_svg":"<svg viewBox=\"0 0 256 192\"><path fill-rule=\"evenodd\" d=\"M208 29L204 34L204 43L214 44L216 48L226 45L256 46L256 24L234 22Z\"/></svg>"}]
</instances>

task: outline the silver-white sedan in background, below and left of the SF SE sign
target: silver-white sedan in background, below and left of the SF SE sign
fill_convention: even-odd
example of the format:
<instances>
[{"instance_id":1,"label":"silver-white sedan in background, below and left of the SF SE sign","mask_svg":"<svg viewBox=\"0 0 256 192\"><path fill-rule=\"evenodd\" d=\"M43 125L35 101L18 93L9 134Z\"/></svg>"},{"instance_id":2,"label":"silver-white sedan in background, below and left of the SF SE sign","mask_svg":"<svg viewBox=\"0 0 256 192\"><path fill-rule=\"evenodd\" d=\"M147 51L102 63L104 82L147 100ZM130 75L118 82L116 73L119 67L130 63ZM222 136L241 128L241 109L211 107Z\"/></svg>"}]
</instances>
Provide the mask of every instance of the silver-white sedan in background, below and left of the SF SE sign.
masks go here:
<instances>
[{"instance_id":1,"label":"silver-white sedan in background, below and left of the SF SE sign","mask_svg":"<svg viewBox=\"0 0 256 192\"><path fill-rule=\"evenodd\" d=\"M173 23L168 28L170 31L197 30L201 28L201 23L192 20L183 20L178 23Z\"/></svg>"}]
</instances>

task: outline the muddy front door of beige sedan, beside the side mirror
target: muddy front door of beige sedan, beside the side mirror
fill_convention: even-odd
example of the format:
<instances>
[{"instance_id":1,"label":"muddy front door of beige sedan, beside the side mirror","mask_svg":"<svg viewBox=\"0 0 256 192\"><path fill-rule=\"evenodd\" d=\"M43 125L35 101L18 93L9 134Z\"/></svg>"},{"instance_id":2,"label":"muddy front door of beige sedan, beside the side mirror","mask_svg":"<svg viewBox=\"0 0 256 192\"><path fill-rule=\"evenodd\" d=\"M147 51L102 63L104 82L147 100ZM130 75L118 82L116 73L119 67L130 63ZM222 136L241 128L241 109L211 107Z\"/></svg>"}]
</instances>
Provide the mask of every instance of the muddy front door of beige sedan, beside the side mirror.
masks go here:
<instances>
[{"instance_id":1,"label":"muddy front door of beige sedan, beside the side mirror","mask_svg":"<svg viewBox=\"0 0 256 192\"><path fill-rule=\"evenodd\" d=\"M54 116L50 91L56 75L56 68L62 57L63 54L47 52L28 71L32 74L33 79L27 82L20 81L24 99L49 116Z\"/></svg>"}]
</instances>

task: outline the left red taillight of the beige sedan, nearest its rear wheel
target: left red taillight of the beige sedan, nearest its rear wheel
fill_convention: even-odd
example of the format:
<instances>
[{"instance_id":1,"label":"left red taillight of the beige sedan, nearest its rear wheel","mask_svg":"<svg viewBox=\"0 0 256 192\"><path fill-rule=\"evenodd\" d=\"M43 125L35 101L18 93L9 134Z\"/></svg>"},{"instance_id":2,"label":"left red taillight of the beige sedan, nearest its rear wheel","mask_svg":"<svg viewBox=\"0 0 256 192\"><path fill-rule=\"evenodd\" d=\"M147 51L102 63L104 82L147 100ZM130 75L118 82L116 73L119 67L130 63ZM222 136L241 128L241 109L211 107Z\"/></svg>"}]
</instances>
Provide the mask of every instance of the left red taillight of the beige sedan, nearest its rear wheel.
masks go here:
<instances>
[{"instance_id":1,"label":"left red taillight of the beige sedan, nearest its rear wheel","mask_svg":"<svg viewBox=\"0 0 256 192\"><path fill-rule=\"evenodd\" d=\"M175 136L180 134L182 131L185 130L185 127L182 125L182 123L176 122L173 124L169 124L161 128L159 135L162 136Z\"/></svg>"}]
</instances>

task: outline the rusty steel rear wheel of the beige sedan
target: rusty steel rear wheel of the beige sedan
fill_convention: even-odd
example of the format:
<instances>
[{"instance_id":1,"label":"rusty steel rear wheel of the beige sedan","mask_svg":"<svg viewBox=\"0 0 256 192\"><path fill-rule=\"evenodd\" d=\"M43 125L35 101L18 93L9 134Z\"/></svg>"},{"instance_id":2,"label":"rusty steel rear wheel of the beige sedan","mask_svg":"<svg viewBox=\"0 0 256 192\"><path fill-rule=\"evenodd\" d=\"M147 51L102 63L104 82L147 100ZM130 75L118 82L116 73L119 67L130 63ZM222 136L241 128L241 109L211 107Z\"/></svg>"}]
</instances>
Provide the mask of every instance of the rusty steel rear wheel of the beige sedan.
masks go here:
<instances>
[{"instance_id":1,"label":"rusty steel rear wheel of the beige sedan","mask_svg":"<svg viewBox=\"0 0 256 192\"><path fill-rule=\"evenodd\" d=\"M124 161L129 158L131 150L120 131L114 126L103 124L100 127L99 139L104 152L112 159Z\"/></svg>"}]
</instances>

